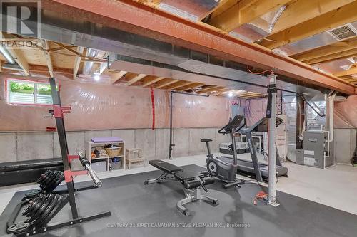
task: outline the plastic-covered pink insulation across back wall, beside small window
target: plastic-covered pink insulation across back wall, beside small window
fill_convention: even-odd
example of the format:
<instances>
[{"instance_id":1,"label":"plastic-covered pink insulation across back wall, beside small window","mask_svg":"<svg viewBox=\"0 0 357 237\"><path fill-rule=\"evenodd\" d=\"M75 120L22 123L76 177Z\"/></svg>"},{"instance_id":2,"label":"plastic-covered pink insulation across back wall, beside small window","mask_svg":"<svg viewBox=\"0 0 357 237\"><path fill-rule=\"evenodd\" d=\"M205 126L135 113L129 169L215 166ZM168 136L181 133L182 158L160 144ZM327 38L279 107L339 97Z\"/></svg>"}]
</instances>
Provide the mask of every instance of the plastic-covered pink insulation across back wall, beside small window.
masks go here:
<instances>
[{"instance_id":1,"label":"plastic-covered pink insulation across back wall, beside small window","mask_svg":"<svg viewBox=\"0 0 357 237\"><path fill-rule=\"evenodd\" d=\"M35 131L55 127L48 116L51 106L6 104L1 78L0 131ZM46 80L45 80L46 81ZM170 94L155 90L156 127L169 127ZM65 115L67 130L149 128L152 125L149 88L79 83L61 80L62 105L71 105ZM223 97L174 95L174 127L220 127L228 121L229 101Z\"/></svg>"}]
</instances>

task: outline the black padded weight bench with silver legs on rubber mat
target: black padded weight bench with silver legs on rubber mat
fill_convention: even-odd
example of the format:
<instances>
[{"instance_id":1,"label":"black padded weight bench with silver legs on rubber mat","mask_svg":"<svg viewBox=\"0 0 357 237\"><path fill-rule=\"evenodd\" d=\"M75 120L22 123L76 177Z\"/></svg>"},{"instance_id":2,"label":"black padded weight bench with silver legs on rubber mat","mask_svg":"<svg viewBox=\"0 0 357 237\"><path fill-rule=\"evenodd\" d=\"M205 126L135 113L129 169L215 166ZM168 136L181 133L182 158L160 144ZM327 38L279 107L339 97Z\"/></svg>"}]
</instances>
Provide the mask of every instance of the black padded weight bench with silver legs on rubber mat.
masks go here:
<instances>
[{"instance_id":1,"label":"black padded weight bench with silver legs on rubber mat","mask_svg":"<svg viewBox=\"0 0 357 237\"><path fill-rule=\"evenodd\" d=\"M177 202L176 207L185 216L190 216L191 213L186 209L185 204L193 201L206 201L213 206L218 205L218 199L214 199L210 196L201 195L201 188L208 192L205 185L213 184L213 177L208 177L208 172L196 173L185 171L181 167L177 167L174 164L164 162L160 159L154 159L149 162L153 167L160 169L163 173L156 179L148 179L144 181L144 184L164 183L166 181L180 181L183 185L183 191L186 198Z\"/></svg>"}]
</instances>

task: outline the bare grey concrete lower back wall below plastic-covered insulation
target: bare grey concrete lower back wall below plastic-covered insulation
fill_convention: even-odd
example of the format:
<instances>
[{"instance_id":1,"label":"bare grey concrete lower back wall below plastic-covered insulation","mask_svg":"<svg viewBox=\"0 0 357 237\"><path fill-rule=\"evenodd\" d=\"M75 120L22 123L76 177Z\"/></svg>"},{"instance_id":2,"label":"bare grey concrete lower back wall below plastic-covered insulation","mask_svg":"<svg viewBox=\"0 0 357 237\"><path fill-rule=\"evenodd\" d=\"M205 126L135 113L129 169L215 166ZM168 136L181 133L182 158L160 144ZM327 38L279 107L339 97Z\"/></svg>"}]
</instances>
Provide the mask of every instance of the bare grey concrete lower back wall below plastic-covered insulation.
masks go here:
<instances>
[{"instance_id":1,"label":"bare grey concrete lower back wall below plastic-covered insulation","mask_svg":"<svg viewBox=\"0 0 357 237\"><path fill-rule=\"evenodd\" d=\"M206 145L201 138L210 138L211 149L218 152L221 142L229 142L228 135L218 134L216 128L174 129L173 157L205 154ZM126 148L141 148L148 159L166 159L169 155L169 135L167 128L124 129L66 132L69 154L85 150L91 137L121 137ZM61 157L59 138L56 132L4 132L0 133L0 162L15 162L29 159Z\"/></svg>"}]
</instances>

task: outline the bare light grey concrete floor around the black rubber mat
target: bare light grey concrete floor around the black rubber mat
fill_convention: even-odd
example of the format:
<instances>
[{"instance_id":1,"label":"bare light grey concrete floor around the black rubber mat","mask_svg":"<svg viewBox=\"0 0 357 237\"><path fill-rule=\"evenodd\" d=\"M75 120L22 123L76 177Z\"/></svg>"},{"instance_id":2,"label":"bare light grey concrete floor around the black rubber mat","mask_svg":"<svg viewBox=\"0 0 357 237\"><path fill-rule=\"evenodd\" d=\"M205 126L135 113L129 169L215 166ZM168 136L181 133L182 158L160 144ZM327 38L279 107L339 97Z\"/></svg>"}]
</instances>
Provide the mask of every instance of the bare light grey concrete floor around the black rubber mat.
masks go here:
<instances>
[{"instance_id":1,"label":"bare light grey concrete floor around the black rubber mat","mask_svg":"<svg viewBox=\"0 0 357 237\"><path fill-rule=\"evenodd\" d=\"M222 155L222 154L215 154ZM240 159L250 159L249 154L240 154ZM262 157L260 157L261 159ZM172 164L178 166L196 164L205 167L206 155L196 155L190 157L179 157L172 159ZM283 163L288 167L289 177L278 179L277 189L288 194L299 196L304 199L316 201L317 203L331 206L333 208L347 211L357 215L357 168L346 164L336 164L328 169L317 169L294 164L292 162ZM149 172L156 168L147 165L146 167L134 166L131 170L116 170L112 172L99 173L101 179L122 176L126 174L136 174ZM246 179L246 177L244 177ZM89 181L89 177L76 177L75 181ZM36 184L20 184L0 188L0 212L11 200L16 191L36 189Z\"/></svg>"}]
</instances>

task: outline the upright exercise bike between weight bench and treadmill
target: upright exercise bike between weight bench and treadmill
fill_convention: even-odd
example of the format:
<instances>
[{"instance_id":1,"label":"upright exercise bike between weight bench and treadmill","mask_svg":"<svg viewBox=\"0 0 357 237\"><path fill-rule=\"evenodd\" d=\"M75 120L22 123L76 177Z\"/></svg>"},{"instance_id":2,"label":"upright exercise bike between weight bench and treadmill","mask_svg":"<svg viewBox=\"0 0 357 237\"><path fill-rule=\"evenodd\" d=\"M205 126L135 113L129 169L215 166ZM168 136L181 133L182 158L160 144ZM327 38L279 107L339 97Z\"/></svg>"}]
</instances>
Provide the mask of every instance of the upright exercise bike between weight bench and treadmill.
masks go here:
<instances>
[{"instance_id":1,"label":"upright exercise bike between weight bench and treadmill","mask_svg":"<svg viewBox=\"0 0 357 237\"><path fill-rule=\"evenodd\" d=\"M243 123L242 123L243 121ZM226 189L230 186L241 187L242 183L240 180L236 179L238 164L237 164L237 152L236 152L236 140L234 138L234 132L241 130L242 127L246 125L246 120L242 115L236 115L233 120L230 118L226 126L222 127L218 133L221 134L231 134L232 139L232 151L233 151L233 164L228 162L223 162L218 157L214 157L211 153L211 148L209 147L209 142L212 142L211 139L201 139L201 142L206 142L207 146L207 158L206 165L208 173L212 177L216 177L223 181L223 187Z\"/></svg>"}]
</instances>

